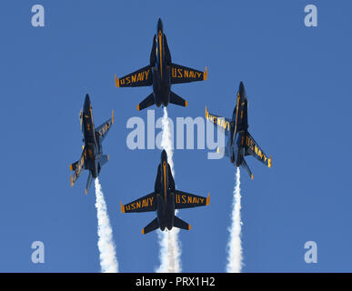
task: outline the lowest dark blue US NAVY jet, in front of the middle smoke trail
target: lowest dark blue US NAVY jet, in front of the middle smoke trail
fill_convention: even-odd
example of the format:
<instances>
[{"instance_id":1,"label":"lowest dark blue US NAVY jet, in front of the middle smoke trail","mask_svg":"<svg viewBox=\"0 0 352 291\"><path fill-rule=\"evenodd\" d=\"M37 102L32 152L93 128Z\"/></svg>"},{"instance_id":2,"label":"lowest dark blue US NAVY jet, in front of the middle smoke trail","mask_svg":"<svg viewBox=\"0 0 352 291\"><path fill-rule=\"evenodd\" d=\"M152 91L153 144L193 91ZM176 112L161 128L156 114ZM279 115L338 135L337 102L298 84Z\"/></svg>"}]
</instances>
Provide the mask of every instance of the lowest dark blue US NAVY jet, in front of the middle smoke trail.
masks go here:
<instances>
[{"instance_id":1,"label":"lowest dark blue US NAVY jet, in front of the middle smoke trail","mask_svg":"<svg viewBox=\"0 0 352 291\"><path fill-rule=\"evenodd\" d=\"M171 230L173 226L190 230L191 226L189 224L175 216L175 210L196 206L208 206L209 203L210 195L206 198L176 190L174 177L167 163L167 154L166 151L163 150L161 153L161 164L157 167L154 192L136 199L125 206L121 203L121 212L156 211L157 217L142 229L142 234L146 235L156 230L156 228L160 228L164 231L165 228Z\"/></svg>"}]
</instances>

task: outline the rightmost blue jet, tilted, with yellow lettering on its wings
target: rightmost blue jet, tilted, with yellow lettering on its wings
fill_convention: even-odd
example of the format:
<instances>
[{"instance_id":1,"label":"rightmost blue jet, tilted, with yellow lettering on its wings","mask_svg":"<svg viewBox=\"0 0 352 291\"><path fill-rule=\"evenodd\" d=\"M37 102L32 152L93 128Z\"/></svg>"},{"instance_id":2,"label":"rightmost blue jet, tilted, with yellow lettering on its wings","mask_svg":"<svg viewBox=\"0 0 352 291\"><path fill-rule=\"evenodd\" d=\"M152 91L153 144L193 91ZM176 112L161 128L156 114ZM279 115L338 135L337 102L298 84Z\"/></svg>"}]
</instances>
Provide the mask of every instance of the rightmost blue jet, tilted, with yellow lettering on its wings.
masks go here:
<instances>
[{"instance_id":1,"label":"rightmost blue jet, tilted, with yellow lettering on its wings","mask_svg":"<svg viewBox=\"0 0 352 291\"><path fill-rule=\"evenodd\" d=\"M242 82L239 84L232 118L213 115L206 110L206 119L223 128L226 136L228 136L227 146L217 148L217 153L228 156L232 164L242 166L252 180L253 174L246 165L245 156L254 156L264 165L271 167L271 156L267 157L248 132L247 98L245 85Z\"/></svg>"}]
</instances>

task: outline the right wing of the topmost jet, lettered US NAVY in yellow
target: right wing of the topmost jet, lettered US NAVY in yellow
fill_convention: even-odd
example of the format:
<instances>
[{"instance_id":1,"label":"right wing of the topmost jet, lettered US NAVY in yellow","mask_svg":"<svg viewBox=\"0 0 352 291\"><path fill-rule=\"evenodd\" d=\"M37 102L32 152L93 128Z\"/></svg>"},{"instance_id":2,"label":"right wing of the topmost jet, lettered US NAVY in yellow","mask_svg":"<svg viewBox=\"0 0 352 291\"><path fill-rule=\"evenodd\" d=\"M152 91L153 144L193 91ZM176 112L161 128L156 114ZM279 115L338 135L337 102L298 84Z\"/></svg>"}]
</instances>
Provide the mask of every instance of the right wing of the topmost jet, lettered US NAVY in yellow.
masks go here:
<instances>
[{"instance_id":1,"label":"right wing of the topmost jet, lettered US NAVY in yellow","mask_svg":"<svg viewBox=\"0 0 352 291\"><path fill-rule=\"evenodd\" d=\"M204 81L206 79L207 69L202 72L183 65L171 64L171 84Z\"/></svg>"}]
</instances>

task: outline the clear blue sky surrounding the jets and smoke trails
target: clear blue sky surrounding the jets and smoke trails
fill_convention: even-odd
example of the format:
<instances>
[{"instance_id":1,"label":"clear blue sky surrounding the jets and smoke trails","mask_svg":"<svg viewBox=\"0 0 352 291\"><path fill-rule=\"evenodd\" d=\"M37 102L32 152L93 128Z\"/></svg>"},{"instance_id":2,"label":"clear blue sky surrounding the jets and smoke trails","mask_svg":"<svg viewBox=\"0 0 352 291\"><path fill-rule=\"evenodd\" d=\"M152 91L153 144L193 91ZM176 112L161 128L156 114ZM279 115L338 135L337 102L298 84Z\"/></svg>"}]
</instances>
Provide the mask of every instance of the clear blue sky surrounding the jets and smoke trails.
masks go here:
<instances>
[{"instance_id":1,"label":"clear blue sky surrounding the jets and smoke trails","mask_svg":"<svg viewBox=\"0 0 352 291\"><path fill-rule=\"evenodd\" d=\"M45 27L31 7L45 7ZM304 25L316 4L318 26ZM146 119L136 105L150 87L116 88L114 75L148 65L156 21L164 22L177 64L204 69L208 80L174 85L187 108L169 115L204 116L205 106L230 116L239 82L246 85L249 131L271 169L254 158L242 171L244 272L351 272L352 5L347 1L5 1L0 12L2 181L1 272L99 272L95 193L87 173L70 188L69 164L81 154L78 113L89 93L96 125L111 110L104 143L110 156L100 181L121 272L154 272L156 233L141 235L155 214L123 215L153 191L159 150L126 147L126 121ZM162 115L156 108L156 117ZM185 272L223 272L235 184L228 160L206 150L177 150L176 186L206 196L186 209L181 231ZM45 244L45 264L32 264L32 242ZM304 244L317 242L316 265Z\"/></svg>"}]
</instances>

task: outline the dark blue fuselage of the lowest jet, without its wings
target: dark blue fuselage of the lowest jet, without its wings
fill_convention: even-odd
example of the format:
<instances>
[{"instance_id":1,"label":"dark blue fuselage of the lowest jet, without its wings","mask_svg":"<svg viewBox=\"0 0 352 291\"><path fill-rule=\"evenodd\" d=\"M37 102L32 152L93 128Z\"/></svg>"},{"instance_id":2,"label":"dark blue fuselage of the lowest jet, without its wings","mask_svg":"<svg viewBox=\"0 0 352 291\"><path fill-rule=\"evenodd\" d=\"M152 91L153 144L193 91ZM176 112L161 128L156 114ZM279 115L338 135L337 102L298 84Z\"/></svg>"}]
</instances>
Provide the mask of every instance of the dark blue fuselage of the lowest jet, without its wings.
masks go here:
<instances>
[{"instance_id":1,"label":"dark blue fuselage of the lowest jet, without its wings","mask_svg":"<svg viewBox=\"0 0 352 291\"><path fill-rule=\"evenodd\" d=\"M157 167L156 175L156 212L161 230L172 229L175 217L175 181L167 164L167 157L163 156Z\"/></svg>"}]
</instances>

